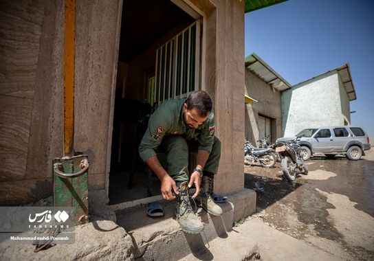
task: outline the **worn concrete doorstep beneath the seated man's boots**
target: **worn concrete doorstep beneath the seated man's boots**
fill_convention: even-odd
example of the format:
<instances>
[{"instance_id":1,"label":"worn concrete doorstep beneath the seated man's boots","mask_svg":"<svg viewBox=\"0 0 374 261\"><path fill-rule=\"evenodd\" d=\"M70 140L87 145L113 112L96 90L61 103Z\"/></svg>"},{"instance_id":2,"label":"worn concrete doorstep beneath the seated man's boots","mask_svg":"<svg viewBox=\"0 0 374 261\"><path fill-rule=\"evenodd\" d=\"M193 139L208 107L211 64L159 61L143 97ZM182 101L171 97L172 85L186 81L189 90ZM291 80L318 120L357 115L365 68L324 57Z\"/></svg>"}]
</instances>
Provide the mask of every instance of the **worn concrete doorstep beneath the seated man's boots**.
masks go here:
<instances>
[{"instance_id":1,"label":"worn concrete doorstep beneath the seated man's boots","mask_svg":"<svg viewBox=\"0 0 374 261\"><path fill-rule=\"evenodd\" d=\"M200 234L187 234L180 229L175 220L175 201L162 201L162 205L162 218L146 216L146 205L116 213L116 223L133 238L135 258L139 260L179 260L190 253L200 253L216 238L227 238L235 220L256 211L256 192L243 189L229 195L229 202L220 204L222 216L211 216L199 208L197 215L204 223Z\"/></svg>"}]
</instances>

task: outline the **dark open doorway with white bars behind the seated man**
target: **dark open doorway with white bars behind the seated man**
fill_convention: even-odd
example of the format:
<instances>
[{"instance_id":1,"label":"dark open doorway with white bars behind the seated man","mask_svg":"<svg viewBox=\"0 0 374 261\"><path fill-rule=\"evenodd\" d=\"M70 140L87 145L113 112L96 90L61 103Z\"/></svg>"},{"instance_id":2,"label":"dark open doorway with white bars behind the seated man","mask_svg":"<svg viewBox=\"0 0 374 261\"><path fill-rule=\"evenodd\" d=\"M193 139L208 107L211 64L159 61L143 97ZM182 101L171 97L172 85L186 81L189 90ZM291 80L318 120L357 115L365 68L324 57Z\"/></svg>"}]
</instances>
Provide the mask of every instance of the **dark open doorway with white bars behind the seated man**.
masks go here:
<instances>
[{"instance_id":1,"label":"dark open doorway with white bars behind the seated man","mask_svg":"<svg viewBox=\"0 0 374 261\"><path fill-rule=\"evenodd\" d=\"M148 119L157 105L183 98L199 81L201 24L170 0L124 0L115 87L109 201L145 198L147 180L138 154ZM197 55L196 55L197 54Z\"/></svg>"}]
</instances>

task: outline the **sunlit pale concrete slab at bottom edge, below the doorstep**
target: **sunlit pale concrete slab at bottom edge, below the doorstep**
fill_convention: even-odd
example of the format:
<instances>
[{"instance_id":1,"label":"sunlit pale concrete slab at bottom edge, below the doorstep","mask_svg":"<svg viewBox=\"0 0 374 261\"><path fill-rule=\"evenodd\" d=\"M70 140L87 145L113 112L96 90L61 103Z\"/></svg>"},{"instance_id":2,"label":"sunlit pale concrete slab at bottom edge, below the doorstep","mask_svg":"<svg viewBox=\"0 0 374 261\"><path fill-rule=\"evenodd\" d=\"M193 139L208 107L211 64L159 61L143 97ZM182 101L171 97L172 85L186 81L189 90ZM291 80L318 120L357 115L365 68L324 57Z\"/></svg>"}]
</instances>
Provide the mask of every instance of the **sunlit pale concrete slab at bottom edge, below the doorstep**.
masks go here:
<instances>
[{"instance_id":1,"label":"sunlit pale concrete slab at bottom edge, below the doorstep","mask_svg":"<svg viewBox=\"0 0 374 261\"><path fill-rule=\"evenodd\" d=\"M226 238L217 238L205 249L190 253L181 260L340 260L288 236L263 223L249 218L228 232Z\"/></svg>"}]
</instances>

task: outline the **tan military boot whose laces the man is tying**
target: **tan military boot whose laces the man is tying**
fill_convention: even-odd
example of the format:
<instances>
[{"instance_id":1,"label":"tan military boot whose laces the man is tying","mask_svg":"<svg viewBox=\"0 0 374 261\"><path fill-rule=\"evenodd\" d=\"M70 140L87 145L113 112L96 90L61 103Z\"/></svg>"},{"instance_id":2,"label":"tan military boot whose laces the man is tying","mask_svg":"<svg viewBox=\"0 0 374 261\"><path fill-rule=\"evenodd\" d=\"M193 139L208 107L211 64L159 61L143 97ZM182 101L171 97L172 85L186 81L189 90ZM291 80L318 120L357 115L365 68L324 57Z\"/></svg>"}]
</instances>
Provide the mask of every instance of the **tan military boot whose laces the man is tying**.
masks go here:
<instances>
[{"instance_id":1,"label":"tan military boot whose laces the man is tying","mask_svg":"<svg viewBox=\"0 0 374 261\"><path fill-rule=\"evenodd\" d=\"M188 194L188 182L178 184L179 195L177 195L177 221L183 231L196 234L203 230L203 223L195 215L190 204Z\"/></svg>"}]
</instances>

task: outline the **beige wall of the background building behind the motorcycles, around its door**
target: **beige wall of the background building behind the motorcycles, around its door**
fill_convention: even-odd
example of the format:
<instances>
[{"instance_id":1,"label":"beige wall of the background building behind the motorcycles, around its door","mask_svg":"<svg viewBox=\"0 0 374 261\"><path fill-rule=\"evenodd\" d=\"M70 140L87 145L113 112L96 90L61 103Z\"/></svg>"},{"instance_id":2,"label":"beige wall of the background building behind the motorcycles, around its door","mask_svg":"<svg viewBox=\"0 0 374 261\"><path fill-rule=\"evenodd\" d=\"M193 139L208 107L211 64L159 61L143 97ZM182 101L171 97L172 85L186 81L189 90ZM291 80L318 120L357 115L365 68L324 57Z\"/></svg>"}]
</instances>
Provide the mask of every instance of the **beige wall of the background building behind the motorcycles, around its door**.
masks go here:
<instances>
[{"instance_id":1,"label":"beige wall of the background building behind the motorcycles, around its door","mask_svg":"<svg viewBox=\"0 0 374 261\"><path fill-rule=\"evenodd\" d=\"M282 136L282 109L281 93L250 69L245 69L245 91L258 102L247 104L245 110L245 139L252 144L261 139L259 135L259 114L270 117L272 120L272 141Z\"/></svg>"}]
</instances>

